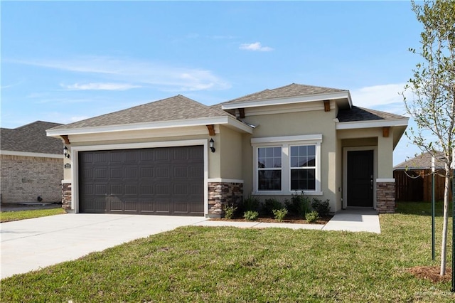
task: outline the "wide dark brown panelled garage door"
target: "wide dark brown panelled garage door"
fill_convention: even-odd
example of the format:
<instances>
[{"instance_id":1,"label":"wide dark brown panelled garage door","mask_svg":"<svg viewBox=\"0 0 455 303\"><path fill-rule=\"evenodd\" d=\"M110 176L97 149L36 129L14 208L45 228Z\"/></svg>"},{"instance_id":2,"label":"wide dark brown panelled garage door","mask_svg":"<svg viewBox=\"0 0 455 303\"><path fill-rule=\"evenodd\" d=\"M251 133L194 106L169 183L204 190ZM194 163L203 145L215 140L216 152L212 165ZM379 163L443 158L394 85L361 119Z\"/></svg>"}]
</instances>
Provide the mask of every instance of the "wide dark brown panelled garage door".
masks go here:
<instances>
[{"instance_id":1,"label":"wide dark brown panelled garage door","mask_svg":"<svg viewBox=\"0 0 455 303\"><path fill-rule=\"evenodd\" d=\"M79 153L82 213L203 216L203 146Z\"/></svg>"}]
</instances>

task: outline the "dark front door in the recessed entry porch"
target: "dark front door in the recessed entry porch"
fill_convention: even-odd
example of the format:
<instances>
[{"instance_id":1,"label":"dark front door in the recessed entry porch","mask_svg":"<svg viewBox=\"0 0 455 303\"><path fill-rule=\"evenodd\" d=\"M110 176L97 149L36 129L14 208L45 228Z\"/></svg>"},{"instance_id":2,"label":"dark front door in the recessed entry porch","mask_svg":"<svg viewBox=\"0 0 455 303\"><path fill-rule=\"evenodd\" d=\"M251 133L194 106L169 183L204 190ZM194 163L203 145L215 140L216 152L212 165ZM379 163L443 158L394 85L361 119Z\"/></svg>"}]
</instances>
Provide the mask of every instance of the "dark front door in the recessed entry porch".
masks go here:
<instances>
[{"instance_id":1,"label":"dark front door in the recessed entry porch","mask_svg":"<svg viewBox=\"0 0 455 303\"><path fill-rule=\"evenodd\" d=\"M348 151L348 206L373 207L373 151Z\"/></svg>"}]
</instances>

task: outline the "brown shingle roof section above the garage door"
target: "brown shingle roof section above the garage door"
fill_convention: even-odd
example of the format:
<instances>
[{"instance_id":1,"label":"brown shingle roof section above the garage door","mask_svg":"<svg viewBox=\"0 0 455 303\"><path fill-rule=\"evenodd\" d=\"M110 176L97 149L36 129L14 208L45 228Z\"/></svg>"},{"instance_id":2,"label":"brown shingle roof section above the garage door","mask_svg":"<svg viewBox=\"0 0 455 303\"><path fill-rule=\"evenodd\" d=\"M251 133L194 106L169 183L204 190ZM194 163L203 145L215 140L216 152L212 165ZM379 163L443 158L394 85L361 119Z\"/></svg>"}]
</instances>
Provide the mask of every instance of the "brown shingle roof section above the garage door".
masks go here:
<instances>
[{"instance_id":1,"label":"brown shingle roof section above the garage door","mask_svg":"<svg viewBox=\"0 0 455 303\"><path fill-rule=\"evenodd\" d=\"M146 103L106 115L66 124L54 129L77 129L83 127L105 127L146 122L164 122L183 119L200 119L230 116L228 112L209 107L182 95Z\"/></svg>"}]
</instances>

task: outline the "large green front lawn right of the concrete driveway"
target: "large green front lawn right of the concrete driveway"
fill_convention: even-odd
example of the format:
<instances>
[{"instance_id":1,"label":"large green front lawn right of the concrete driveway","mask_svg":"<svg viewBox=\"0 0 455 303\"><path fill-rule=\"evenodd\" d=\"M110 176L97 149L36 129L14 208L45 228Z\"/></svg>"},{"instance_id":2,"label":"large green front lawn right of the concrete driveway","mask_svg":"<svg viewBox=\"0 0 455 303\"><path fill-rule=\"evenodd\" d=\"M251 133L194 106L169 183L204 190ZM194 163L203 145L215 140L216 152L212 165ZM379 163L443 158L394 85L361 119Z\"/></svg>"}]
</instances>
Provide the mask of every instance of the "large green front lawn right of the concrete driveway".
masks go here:
<instances>
[{"instance_id":1,"label":"large green front lawn right of the concrete driveway","mask_svg":"<svg viewBox=\"0 0 455 303\"><path fill-rule=\"evenodd\" d=\"M381 215L380 235L178 228L4 279L0 297L75 303L454 302L450 282L406 272L438 264L431 260L431 217L409 211L417 206L425 208L407 204L400 213ZM440 242L441 217L437 228Z\"/></svg>"}]
</instances>

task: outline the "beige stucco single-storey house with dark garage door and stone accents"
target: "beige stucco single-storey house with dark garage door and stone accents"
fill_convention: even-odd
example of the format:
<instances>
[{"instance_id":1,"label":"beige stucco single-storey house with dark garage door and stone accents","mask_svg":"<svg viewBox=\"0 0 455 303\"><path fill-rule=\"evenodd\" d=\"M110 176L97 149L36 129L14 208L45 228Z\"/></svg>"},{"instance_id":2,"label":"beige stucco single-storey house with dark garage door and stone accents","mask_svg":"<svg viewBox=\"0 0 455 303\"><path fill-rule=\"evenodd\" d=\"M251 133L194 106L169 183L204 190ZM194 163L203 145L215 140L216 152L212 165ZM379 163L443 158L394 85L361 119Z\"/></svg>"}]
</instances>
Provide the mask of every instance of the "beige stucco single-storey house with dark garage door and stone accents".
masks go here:
<instances>
[{"instance_id":1,"label":"beige stucco single-storey house with dark garage door and stone accents","mask_svg":"<svg viewBox=\"0 0 455 303\"><path fill-rule=\"evenodd\" d=\"M392 151L407 117L348 90L291 84L206 106L182 95L48 129L70 150L63 206L223 216L248 196L395 211ZM70 167L70 168L69 168Z\"/></svg>"}]
</instances>

